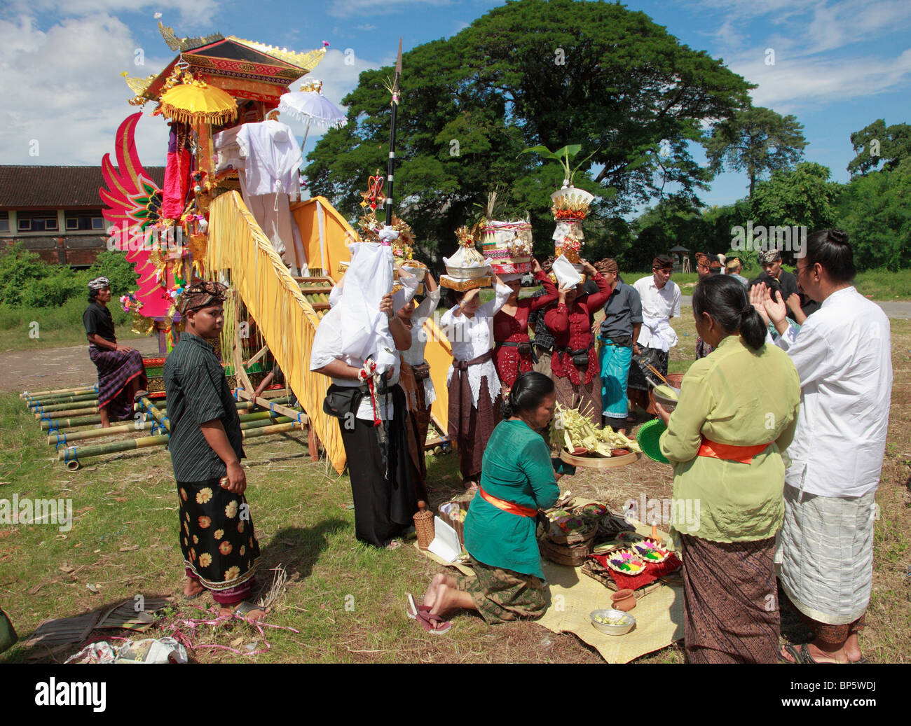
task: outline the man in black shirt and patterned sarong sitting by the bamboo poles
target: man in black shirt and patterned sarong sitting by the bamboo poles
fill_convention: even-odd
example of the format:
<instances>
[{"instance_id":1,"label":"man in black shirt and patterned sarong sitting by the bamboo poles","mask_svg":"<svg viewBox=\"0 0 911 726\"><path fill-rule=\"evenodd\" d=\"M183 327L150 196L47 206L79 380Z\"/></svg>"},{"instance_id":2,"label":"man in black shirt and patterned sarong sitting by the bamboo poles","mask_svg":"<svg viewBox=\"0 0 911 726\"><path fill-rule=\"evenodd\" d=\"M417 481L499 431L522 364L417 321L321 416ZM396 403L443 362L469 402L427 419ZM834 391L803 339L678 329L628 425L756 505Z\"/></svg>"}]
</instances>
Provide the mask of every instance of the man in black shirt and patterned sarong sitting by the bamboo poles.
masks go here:
<instances>
[{"instance_id":1,"label":"man in black shirt and patterned sarong sitting by the bamboo poles","mask_svg":"<svg viewBox=\"0 0 911 726\"><path fill-rule=\"evenodd\" d=\"M121 421L132 417L133 400L147 385L139 351L117 342L114 318L107 309L110 299L107 277L96 277L88 283L88 307L82 314L88 357L98 369L98 416L105 429L111 425L111 418Z\"/></svg>"}]
</instances>

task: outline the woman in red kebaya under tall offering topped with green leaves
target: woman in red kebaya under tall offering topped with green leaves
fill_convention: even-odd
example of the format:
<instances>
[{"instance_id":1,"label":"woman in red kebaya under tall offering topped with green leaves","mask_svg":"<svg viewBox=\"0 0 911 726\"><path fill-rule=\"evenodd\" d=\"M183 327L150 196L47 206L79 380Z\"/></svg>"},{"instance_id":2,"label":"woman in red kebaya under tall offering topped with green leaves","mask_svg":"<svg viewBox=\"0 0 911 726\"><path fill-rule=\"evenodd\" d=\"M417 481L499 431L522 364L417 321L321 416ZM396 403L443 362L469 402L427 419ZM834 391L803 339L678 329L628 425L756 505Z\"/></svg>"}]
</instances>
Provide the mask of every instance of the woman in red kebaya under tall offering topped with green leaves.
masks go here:
<instances>
[{"instance_id":1,"label":"woman in red kebaya under tall offering topped with green leaves","mask_svg":"<svg viewBox=\"0 0 911 726\"><path fill-rule=\"evenodd\" d=\"M598 292L582 295L582 283L576 287L561 286L557 306L545 313L544 322L554 334L554 357L550 360L550 368L558 403L568 408L586 409L592 424L600 428L601 379L591 316L604 307L611 287L595 267L585 260L581 264L598 286Z\"/></svg>"}]
</instances>

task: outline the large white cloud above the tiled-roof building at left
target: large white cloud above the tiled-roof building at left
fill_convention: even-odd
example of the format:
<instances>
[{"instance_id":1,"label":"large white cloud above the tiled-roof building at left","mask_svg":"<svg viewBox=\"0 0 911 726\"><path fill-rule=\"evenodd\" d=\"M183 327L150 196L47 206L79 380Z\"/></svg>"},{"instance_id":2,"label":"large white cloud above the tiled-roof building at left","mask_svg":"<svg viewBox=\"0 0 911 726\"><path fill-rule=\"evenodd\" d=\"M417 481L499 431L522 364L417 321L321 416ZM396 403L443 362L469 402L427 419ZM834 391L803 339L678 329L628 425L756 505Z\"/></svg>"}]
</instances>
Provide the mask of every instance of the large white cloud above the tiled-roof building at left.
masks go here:
<instances>
[{"instance_id":1,"label":"large white cloud above the tiled-roof building at left","mask_svg":"<svg viewBox=\"0 0 911 726\"><path fill-rule=\"evenodd\" d=\"M170 61L147 54L145 66L136 66L137 47L129 28L105 14L68 18L46 31L27 17L0 20L0 98L15 99L0 108L0 163L99 165L114 150L120 122L138 110L127 103L132 92L120 71L148 76ZM167 138L160 117L143 118L137 128L143 164L164 163ZM29 156L33 139L38 156Z\"/></svg>"}]
</instances>

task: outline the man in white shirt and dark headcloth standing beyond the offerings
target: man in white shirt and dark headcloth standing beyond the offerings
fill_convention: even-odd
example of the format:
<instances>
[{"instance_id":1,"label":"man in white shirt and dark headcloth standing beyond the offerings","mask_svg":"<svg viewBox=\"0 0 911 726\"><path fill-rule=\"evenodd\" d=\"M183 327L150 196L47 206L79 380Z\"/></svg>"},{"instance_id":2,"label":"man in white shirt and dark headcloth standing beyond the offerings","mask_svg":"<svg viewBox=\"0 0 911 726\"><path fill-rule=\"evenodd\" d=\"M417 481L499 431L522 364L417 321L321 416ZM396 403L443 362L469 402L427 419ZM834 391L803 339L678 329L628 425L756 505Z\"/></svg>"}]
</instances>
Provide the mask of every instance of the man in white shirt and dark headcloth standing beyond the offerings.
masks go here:
<instances>
[{"instance_id":1,"label":"man in white shirt and dark headcloth standing beyond the offerings","mask_svg":"<svg viewBox=\"0 0 911 726\"><path fill-rule=\"evenodd\" d=\"M642 302L642 328L636 341L642 349L643 363L650 363L668 375L668 351L677 345L677 333L670 327L670 318L680 318L681 288L670 281L673 261L667 255L652 260L651 277L642 277L633 283ZM630 402L654 415L649 401L649 383L640 366L630 366ZM635 411L635 408L633 408ZM629 419L628 419L629 420Z\"/></svg>"}]
</instances>

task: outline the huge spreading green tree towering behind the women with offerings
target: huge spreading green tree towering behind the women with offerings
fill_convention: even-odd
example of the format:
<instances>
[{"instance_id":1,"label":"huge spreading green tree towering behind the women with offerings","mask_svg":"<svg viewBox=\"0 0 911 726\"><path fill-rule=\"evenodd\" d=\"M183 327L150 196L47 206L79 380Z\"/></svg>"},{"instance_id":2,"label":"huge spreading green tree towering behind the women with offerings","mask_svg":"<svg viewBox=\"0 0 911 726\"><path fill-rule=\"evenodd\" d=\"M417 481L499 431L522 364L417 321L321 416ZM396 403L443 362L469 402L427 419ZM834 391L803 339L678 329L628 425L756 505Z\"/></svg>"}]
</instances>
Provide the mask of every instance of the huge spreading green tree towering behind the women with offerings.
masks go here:
<instances>
[{"instance_id":1,"label":"huge spreading green tree towering behind the women with offerings","mask_svg":"<svg viewBox=\"0 0 911 726\"><path fill-rule=\"evenodd\" d=\"M343 99L353 121L330 130L308 156L313 193L345 214L359 209L366 176L385 166L391 75L388 67L363 72ZM590 224L623 237L623 226L605 219L663 185L695 201L711 172L692 159L691 142L701 140L704 124L746 106L750 87L622 5L507 2L457 35L404 55L396 207L419 250L435 257L454 246L453 230L476 218L487 192L498 188L499 214L530 214L543 253L552 249L549 194L563 173L520 152L580 143L578 158L595 154L576 186L601 200Z\"/></svg>"}]
</instances>

